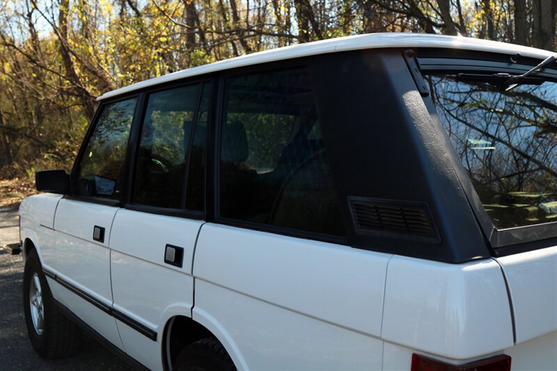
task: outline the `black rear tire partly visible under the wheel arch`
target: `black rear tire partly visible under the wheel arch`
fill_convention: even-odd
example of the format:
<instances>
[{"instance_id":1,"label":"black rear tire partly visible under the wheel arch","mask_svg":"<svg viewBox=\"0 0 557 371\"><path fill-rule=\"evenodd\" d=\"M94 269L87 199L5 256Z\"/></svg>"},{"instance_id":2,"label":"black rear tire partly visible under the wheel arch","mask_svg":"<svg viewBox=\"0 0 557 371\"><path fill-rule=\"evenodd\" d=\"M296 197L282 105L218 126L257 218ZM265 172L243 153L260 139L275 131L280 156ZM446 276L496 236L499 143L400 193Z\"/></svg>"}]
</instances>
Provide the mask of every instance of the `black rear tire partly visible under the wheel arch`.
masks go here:
<instances>
[{"instance_id":1,"label":"black rear tire partly visible under the wheel arch","mask_svg":"<svg viewBox=\"0 0 557 371\"><path fill-rule=\"evenodd\" d=\"M235 371L226 349L216 338L191 343L176 358L175 371Z\"/></svg>"}]
</instances>

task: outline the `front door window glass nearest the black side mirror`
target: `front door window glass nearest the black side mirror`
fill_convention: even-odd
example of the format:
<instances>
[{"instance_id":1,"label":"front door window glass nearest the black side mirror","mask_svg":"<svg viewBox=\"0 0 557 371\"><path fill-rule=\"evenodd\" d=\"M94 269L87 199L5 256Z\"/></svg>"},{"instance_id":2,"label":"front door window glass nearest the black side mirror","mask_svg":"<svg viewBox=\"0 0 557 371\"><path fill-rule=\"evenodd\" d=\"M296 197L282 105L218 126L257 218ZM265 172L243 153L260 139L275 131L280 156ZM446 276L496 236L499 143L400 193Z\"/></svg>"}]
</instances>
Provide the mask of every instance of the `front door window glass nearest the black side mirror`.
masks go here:
<instances>
[{"instance_id":1,"label":"front door window glass nearest the black side mirror","mask_svg":"<svg viewBox=\"0 0 557 371\"><path fill-rule=\"evenodd\" d=\"M93 130L77 172L79 195L118 199L136 98L107 104Z\"/></svg>"}]
</instances>

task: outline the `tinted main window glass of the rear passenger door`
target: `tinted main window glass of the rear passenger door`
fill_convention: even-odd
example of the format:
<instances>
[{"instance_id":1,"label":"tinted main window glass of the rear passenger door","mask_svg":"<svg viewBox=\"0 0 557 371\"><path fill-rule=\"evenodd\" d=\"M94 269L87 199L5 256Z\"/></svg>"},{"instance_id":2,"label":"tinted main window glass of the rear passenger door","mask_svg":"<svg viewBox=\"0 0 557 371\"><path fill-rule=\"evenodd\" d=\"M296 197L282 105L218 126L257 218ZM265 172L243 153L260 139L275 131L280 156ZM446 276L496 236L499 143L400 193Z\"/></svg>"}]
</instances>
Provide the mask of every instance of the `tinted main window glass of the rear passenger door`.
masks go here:
<instances>
[{"instance_id":1,"label":"tinted main window glass of the rear passenger door","mask_svg":"<svg viewBox=\"0 0 557 371\"><path fill-rule=\"evenodd\" d=\"M199 85L149 94L136 159L134 203L182 208Z\"/></svg>"}]
</instances>

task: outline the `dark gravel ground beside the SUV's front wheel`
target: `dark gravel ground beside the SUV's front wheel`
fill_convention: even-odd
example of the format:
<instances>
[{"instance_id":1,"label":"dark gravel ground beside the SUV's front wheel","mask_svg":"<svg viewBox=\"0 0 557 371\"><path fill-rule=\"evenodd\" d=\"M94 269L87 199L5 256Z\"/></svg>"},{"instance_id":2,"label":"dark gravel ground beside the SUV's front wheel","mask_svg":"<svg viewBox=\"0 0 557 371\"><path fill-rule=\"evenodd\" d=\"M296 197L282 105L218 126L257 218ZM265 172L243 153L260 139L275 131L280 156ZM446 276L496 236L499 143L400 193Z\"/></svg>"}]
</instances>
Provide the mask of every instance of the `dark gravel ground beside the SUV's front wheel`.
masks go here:
<instances>
[{"instance_id":1,"label":"dark gravel ground beside the SUV's front wheel","mask_svg":"<svg viewBox=\"0 0 557 371\"><path fill-rule=\"evenodd\" d=\"M0 206L0 247L19 240L17 211ZM47 361L27 338L22 306L23 259L0 248L0 369L5 370L133 370L91 338L72 358Z\"/></svg>"}]
</instances>

